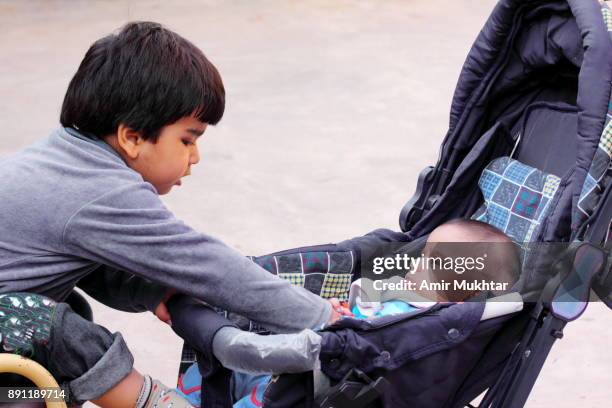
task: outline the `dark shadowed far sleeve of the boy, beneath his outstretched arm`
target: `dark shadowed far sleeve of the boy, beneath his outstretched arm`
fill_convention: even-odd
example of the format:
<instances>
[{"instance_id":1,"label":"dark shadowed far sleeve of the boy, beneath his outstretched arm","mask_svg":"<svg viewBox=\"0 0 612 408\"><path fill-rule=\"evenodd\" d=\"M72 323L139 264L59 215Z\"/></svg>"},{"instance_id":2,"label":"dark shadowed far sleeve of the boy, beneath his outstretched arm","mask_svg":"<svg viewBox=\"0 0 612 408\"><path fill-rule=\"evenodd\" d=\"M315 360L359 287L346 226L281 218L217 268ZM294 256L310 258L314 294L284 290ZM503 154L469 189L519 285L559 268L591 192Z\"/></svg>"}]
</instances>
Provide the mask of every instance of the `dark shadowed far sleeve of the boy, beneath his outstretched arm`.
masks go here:
<instances>
[{"instance_id":1,"label":"dark shadowed far sleeve of the boy, beneath his outstretched arm","mask_svg":"<svg viewBox=\"0 0 612 408\"><path fill-rule=\"evenodd\" d=\"M77 287L108 307L131 313L154 311L168 293L162 285L106 265L78 281Z\"/></svg>"}]
</instances>

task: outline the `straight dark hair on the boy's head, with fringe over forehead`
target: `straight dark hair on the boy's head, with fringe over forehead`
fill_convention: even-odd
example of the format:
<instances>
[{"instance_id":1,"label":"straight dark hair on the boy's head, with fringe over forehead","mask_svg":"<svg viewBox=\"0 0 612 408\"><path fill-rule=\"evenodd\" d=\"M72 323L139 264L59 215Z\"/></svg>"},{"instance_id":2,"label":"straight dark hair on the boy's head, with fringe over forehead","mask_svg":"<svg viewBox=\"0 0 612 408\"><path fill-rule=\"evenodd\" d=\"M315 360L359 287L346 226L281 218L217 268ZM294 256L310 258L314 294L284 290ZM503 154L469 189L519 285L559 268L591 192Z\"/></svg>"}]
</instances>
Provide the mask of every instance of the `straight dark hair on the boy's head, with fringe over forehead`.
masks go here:
<instances>
[{"instance_id":1,"label":"straight dark hair on the boy's head, with fringe over forehead","mask_svg":"<svg viewBox=\"0 0 612 408\"><path fill-rule=\"evenodd\" d=\"M89 48L60 122L97 137L124 124L155 142L162 127L182 117L214 125L224 109L221 76L202 51L160 24L134 22Z\"/></svg>"}]
</instances>

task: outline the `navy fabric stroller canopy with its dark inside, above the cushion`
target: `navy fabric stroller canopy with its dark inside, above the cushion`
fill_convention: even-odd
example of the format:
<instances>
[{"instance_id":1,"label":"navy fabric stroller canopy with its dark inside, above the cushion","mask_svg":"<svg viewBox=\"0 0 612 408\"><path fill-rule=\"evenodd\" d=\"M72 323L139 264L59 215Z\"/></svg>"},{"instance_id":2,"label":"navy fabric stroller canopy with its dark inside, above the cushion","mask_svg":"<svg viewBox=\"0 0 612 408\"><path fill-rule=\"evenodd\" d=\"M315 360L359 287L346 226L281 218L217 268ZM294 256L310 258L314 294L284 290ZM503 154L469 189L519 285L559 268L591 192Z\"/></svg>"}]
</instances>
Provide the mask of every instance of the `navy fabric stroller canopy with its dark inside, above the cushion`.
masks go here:
<instances>
[{"instance_id":1,"label":"navy fabric stroller canopy with its dark inside, above the cushion","mask_svg":"<svg viewBox=\"0 0 612 408\"><path fill-rule=\"evenodd\" d=\"M402 219L402 229L416 238L472 215L478 172L514 153L561 177L569 190L550 221L568 227L545 239L576 238L611 178L610 31L610 9L596 0L500 1L459 76L440 159L423 186L426 214L411 229ZM481 139L495 125L507 135L496 135L495 143L504 143L492 148ZM466 163L470 154L474 163Z\"/></svg>"}]
</instances>

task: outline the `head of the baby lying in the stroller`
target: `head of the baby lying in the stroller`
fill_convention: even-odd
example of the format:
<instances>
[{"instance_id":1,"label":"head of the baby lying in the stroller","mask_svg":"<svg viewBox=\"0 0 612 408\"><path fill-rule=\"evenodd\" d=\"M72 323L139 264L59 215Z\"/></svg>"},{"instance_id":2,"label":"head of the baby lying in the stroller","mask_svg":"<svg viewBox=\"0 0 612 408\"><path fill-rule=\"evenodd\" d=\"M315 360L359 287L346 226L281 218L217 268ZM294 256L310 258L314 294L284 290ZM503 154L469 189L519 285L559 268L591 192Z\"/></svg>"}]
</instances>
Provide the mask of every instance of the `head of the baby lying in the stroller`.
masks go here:
<instances>
[{"instance_id":1,"label":"head of the baby lying in the stroller","mask_svg":"<svg viewBox=\"0 0 612 408\"><path fill-rule=\"evenodd\" d=\"M441 301L460 302L479 293L469 285L457 288L455 281L507 283L509 290L520 274L520 257L512 240L497 228L475 220L455 219L437 227L429 235L423 255L453 262L452 268L439 264L428 268L429 281L450 283L447 290L437 290L436 297ZM491 292L499 295L504 290Z\"/></svg>"}]
</instances>

